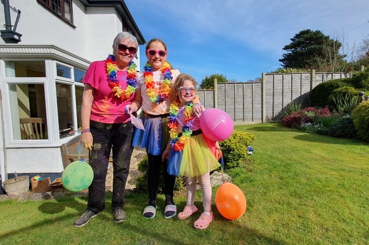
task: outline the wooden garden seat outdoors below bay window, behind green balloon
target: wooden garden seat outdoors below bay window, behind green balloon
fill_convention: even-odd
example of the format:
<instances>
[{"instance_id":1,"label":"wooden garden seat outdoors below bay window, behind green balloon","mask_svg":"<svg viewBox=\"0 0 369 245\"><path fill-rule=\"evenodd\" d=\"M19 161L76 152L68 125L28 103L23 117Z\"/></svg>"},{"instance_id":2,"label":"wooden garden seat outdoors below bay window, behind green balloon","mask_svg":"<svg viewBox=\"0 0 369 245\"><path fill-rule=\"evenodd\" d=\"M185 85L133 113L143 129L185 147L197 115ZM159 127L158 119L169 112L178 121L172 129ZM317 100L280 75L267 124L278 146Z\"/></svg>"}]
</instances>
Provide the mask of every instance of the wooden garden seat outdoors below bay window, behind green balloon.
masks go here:
<instances>
[{"instance_id":1,"label":"wooden garden seat outdoors below bay window, behind green balloon","mask_svg":"<svg viewBox=\"0 0 369 245\"><path fill-rule=\"evenodd\" d=\"M63 145L61 145L61 147L60 147L64 169L70 163L79 160L78 159L78 152L77 152L77 147L78 147L78 144L79 144L79 137L80 137L80 135L76 135L71 140L69 140L67 143L64 143ZM79 158L80 159L84 158L84 161L88 162L88 149L82 147Z\"/></svg>"}]
</instances>

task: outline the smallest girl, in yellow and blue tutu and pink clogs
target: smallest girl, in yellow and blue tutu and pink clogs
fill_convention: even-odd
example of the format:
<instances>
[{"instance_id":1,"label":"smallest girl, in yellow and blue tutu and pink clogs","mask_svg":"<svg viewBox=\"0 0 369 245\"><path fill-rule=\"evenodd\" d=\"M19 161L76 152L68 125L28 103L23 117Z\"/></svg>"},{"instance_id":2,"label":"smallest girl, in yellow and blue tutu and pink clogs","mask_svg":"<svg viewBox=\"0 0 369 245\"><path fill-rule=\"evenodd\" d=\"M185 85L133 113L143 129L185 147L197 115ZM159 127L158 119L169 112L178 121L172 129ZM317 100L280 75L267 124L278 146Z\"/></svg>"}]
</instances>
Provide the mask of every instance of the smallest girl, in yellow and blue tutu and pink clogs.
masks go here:
<instances>
[{"instance_id":1,"label":"smallest girl, in yellow and blue tutu and pink clogs","mask_svg":"<svg viewBox=\"0 0 369 245\"><path fill-rule=\"evenodd\" d=\"M186 177L186 205L178 214L179 220L185 220L197 212L194 205L196 180L199 181L204 212L193 223L197 229L205 229L213 220L211 212L210 172L220 164L215 158L216 142L202 134L200 120L192 112L192 100L196 94L196 80L187 74L180 74L174 82L173 93L176 99L170 105L168 117L171 141L163 152L162 159L168 159L170 174Z\"/></svg>"}]
</instances>

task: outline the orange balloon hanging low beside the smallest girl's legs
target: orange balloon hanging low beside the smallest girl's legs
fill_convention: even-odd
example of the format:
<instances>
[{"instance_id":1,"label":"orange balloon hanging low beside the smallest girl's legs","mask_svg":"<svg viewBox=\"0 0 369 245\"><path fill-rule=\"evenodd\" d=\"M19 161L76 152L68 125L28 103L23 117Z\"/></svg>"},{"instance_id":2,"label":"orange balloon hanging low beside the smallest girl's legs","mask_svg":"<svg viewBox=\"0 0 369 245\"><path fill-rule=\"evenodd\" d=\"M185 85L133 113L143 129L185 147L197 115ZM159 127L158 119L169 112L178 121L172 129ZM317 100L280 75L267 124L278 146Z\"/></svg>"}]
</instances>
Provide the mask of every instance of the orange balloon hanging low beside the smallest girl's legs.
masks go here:
<instances>
[{"instance_id":1,"label":"orange balloon hanging low beside the smallest girl's legs","mask_svg":"<svg viewBox=\"0 0 369 245\"><path fill-rule=\"evenodd\" d=\"M236 185L226 182L216 190L215 205L224 218L237 220L246 212L246 197Z\"/></svg>"}]
</instances>

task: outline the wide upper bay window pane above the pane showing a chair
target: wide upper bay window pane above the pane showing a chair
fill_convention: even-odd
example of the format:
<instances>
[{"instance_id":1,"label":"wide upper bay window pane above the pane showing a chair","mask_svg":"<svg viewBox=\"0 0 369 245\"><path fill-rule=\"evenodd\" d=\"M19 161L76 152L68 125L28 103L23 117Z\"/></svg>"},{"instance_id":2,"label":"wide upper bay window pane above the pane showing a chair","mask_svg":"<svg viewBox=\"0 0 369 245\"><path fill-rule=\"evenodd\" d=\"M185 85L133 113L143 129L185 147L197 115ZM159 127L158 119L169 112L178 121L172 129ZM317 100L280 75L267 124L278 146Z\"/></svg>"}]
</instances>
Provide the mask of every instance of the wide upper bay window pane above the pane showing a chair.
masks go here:
<instances>
[{"instance_id":1,"label":"wide upper bay window pane above the pane showing a chair","mask_svg":"<svg viewBox=\"0 0 369 245\"><path fill-rule=\"evenodd\" d=\"M46 77L44 61L5 61L6 77Z\"/></svg>"}]
</instances>

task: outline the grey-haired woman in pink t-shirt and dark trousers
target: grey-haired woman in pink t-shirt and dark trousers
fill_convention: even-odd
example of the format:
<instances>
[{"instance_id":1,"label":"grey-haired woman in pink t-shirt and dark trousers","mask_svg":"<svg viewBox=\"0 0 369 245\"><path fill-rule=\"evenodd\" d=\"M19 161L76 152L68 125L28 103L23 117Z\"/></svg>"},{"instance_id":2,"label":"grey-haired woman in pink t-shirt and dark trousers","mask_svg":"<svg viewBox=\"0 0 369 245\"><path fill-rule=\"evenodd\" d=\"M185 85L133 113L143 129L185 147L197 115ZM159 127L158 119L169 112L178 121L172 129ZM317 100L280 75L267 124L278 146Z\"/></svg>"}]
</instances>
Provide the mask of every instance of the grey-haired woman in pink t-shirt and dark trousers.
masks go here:
<instances>
[{"instance_id":1,"label":"grey-haired woman in pink t-shirt and dark trousers","mask_svg":"<svg viewBox=\"0 0 369 245\"><path fill-rule=\"evenodd\" d=\"M111 209L115 222L126 219L123 210L124 191L132 154L133 126L125 107L141 103L133 100L136 88L136 38L118 33L113 41L113 54L106 60L94 61L84 78L82 97L82 146L89 149L89 164L94 178L88 188L86 211L74 223L81 227L105 209L105 178L110 151L113 156L113 196Z\"/></svg>"}]
</instances>

